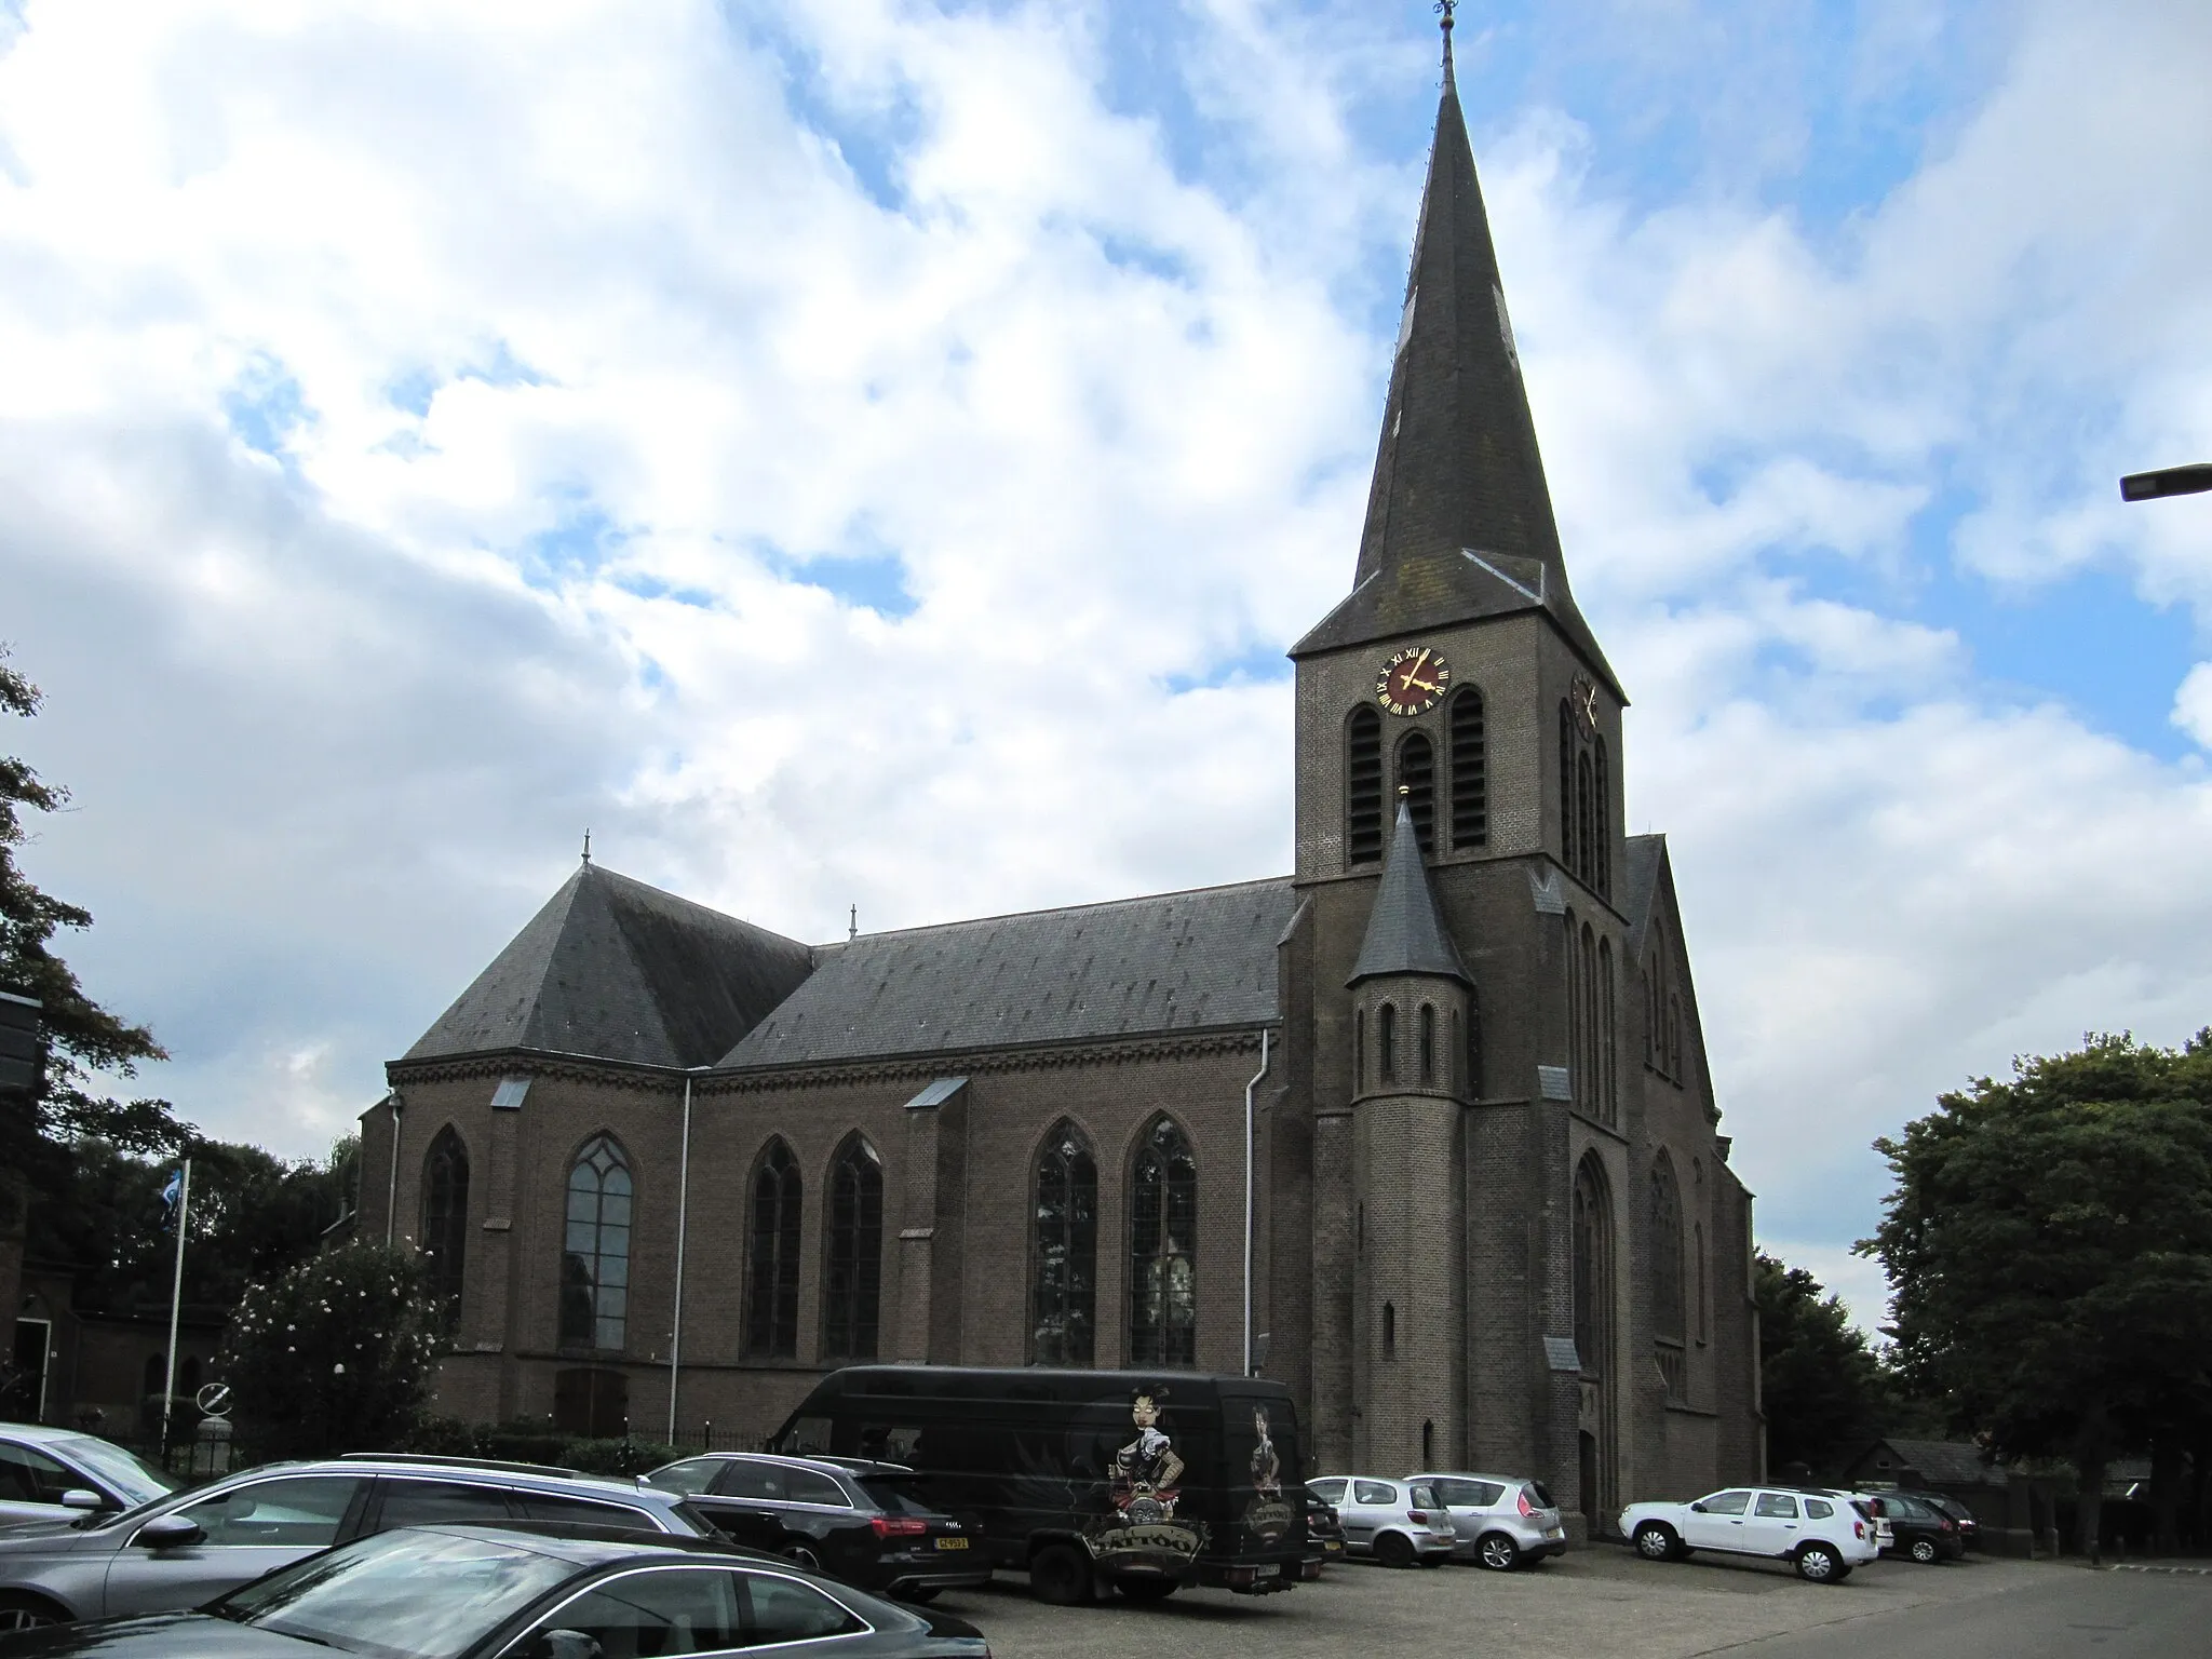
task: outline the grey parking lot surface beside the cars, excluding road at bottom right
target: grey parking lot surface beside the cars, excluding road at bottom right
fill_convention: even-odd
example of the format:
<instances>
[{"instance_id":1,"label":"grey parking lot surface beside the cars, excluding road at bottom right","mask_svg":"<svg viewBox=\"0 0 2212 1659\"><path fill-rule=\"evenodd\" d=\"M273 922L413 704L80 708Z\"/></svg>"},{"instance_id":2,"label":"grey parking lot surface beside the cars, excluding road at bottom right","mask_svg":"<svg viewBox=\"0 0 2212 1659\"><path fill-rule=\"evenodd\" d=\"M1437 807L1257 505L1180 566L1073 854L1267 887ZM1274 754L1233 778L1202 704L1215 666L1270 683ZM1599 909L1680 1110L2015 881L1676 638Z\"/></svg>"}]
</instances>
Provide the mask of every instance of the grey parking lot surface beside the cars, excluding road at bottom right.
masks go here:
<instances>
[{"instance_id":1,"label":"grey parking lot surface beside the cars, excluding road at bottom right","mask_svg":"<svg viewBox=\"0 0 2212 1659\"><path fill-rule=\"evenodd\" d=\"M1159 1606L1104 1599L1091 1608L1033 1601L1020 1577L936 1606L973 1621L995 1659L1126 1659L1159 1650L1210 1659L1347 1652L1495 1650L1515 1659L1637 1655L1670 1659L1761 1637L1878 1619L2011 1590L2081 1584L2079 1566L1966 1559L1951 1566L1874 1562L1847 1584L1816 1586L1761 1562L1639 1562L1626 1548L1571 1551L1535 1571L1442 1566L1394 1573L1363 1562L1332 1566L1321 1584L1243 1597L1183 1590ZM2110 1575L2104 1575L2110 1577ZM2212 1606L2208 1588L2205 1606ZM1871 1635L1871 1632L1869 1632Z\"/></svg>"}]
</instances>

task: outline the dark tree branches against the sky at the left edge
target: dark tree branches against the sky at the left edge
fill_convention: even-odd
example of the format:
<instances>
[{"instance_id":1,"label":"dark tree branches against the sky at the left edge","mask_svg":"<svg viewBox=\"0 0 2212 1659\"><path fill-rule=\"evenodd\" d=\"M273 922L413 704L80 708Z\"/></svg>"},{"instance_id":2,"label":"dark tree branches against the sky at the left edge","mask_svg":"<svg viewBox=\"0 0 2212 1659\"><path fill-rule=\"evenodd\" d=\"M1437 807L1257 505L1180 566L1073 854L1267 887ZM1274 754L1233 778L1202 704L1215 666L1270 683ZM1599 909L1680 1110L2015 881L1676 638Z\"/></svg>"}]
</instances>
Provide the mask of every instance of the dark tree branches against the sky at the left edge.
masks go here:
<instances>
[{"instance_id":1,"label":"dark tree branches against the sky at the left edge","mask_svg":"<svg viewBox=\"0 0 2212 1659\"><path fill-rule=\"evenodd\" d=\"M0 710L29 719L38 706L38 686L7 666L7 646L0 646ZM55 956L53 936L91 927L93 914L42 894L15 865L15 849L31 841L27 814L60 812L66 803L69 790L0 754L0 989L38 998L49 1033L44 1088L29 1110L0 1108L0 1168L29 1175L33 1190L51 1175L55 1148L77 1135L137 1152L175 1150L192 1139L168 1102L119 1102L93 1088L93 1073L131 1077L142 1060L168 1055L146 1026L126 1024L93 1002Z\"/></svg>"}]
</instances>

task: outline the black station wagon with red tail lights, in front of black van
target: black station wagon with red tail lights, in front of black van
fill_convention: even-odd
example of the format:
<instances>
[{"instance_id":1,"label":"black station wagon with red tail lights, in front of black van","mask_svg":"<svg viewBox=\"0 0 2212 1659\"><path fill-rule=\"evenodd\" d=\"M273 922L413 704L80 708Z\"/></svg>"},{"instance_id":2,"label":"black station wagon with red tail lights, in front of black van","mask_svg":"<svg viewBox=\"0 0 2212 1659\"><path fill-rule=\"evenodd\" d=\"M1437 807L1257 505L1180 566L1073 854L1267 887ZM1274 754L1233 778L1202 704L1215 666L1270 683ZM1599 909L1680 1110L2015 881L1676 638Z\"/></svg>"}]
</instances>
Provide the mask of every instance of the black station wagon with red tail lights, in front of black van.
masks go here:
<instances>
[{"instance_id":1,"label":"black station wagon with red tail lights, in front of black van","mask_svg":"<svg viewBox=\"0 0 2212 1659\"><path fill-rule=\"evenodd\" d=\"M991 1582L975 1517L931 1504L920 1475L896 1462L717 1451L646 1480L684 1493L737 1544L863 1590L927 1601Z\"/></svg>"}]
</instances>

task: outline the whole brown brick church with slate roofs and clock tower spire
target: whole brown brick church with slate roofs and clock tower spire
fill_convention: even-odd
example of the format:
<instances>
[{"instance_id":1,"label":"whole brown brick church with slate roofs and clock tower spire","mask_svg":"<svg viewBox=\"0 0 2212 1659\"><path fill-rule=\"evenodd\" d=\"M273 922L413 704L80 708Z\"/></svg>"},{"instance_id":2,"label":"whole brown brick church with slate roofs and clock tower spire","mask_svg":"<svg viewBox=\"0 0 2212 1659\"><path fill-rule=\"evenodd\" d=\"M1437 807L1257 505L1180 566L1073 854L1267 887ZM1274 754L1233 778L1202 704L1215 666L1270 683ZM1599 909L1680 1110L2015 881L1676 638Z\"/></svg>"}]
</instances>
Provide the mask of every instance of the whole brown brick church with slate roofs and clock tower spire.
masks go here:
<instances>
[{"instance_id":1,"label":"whole brown brick church with slate roofs and clock tower spire","mask_svg":"<svg viewBox=\"0 0 2212 1659\"><path fill-rule=\"evenodd\" d=\"M1321 1471L1599 1524L1756 1478L1750 1192L1449 51L1352 591L1290 657L1290 876L801 945L586 860L363 1117L440 1409L730 1444L849 1360L1250 1354Z\"/></svg>"}]
</instances>

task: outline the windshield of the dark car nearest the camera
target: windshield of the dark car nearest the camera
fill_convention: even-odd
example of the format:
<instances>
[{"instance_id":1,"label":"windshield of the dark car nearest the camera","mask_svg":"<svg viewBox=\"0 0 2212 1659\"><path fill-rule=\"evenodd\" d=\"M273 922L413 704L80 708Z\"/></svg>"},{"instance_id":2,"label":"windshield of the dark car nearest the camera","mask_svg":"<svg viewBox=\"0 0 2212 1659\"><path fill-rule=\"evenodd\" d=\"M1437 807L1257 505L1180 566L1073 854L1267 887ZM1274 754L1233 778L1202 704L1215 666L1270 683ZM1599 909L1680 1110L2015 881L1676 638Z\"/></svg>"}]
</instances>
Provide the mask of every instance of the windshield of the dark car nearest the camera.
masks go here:
<instances>
[{"instance_id":1,"label":"windshield of the dark car nearest the camera","mask_svg":"<svg viewBox=\"0 0 2212 1659\"><path fill-rule=\"evenodd\" d=\"M575 1573L513 1540L403 1528L312 1555L208 1610L369 1659L440 1659Z\"/></svg>"}]
</instances>

